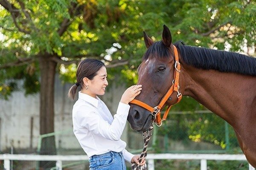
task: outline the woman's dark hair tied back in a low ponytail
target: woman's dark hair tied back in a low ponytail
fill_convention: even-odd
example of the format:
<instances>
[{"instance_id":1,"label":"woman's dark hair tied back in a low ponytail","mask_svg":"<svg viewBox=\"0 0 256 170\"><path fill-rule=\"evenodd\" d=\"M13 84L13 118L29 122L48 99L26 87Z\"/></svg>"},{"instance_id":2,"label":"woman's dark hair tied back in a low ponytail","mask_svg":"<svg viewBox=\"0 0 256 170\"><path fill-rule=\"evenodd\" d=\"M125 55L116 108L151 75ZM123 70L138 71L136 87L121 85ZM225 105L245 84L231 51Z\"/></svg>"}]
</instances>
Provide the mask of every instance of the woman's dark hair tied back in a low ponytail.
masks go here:
<instances>
[{"instance_id":1,"label":"woman's dark hair tied back in a low ponytail","mask_svg":"<svg viewBox=\"0 0 256 170\"><path fill-rule=\"evenodd\" d=\"M76 84L69 89L68 97L70 99L74 99L78 86L80 85L81 89L83 89L83 78L87 77L88 79L92 80L102 67L105 67L105 65L102 61L98 59L87 58L82 60L77 67Z\"/></svg>"}]
</instances>

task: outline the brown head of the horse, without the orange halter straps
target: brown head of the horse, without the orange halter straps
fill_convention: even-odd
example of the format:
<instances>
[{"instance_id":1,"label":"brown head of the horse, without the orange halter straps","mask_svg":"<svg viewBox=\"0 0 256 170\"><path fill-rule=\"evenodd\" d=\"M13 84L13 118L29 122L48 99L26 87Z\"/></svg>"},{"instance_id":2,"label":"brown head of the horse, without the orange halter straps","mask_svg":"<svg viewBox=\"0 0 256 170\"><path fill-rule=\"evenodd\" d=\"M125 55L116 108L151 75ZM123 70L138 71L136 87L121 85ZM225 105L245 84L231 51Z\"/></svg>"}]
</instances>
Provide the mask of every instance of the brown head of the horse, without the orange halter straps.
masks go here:
<instances>
[{"instance_id":1,"label":"brown head of the horse, without the orange halter straps","mask_svg":"<svg viewBox=\"0 0 256 170\"><path fill-rule=\"evenodd\" d=\"M143 61L138 68L137 84L142 85L142 91L135 99L155 107L172 85L175 73L174 47L168 27L163 26L163 40L153 42L144 32L144 42L148 48ZM177 102L177 93L168 96L165 105ZM131 104L128 122L137 131L147 130L152 122L152 114L139 105Z\"/></svg>"}]
</instances>

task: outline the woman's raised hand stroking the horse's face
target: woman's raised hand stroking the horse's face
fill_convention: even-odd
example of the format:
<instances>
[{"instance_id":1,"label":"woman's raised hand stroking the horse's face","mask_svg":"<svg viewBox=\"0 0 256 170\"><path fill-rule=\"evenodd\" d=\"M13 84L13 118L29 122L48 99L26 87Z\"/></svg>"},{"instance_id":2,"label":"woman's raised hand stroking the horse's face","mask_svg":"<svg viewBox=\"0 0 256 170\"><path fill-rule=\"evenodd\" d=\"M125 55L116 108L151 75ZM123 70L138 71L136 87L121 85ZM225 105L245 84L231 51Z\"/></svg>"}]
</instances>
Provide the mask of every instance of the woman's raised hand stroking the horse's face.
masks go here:
<instances>
[{"instance_id":1,"label":"woman's raised hand stroking the horse's face","mask_svg":"<svg viewBox=\"0 0 256 170\"><path fill-rule=\"evenodd\" d=\"M140 94L142 85L132 85L123 93L120 102L128 105L137 95Z\"/></svg>"}]
</instances>

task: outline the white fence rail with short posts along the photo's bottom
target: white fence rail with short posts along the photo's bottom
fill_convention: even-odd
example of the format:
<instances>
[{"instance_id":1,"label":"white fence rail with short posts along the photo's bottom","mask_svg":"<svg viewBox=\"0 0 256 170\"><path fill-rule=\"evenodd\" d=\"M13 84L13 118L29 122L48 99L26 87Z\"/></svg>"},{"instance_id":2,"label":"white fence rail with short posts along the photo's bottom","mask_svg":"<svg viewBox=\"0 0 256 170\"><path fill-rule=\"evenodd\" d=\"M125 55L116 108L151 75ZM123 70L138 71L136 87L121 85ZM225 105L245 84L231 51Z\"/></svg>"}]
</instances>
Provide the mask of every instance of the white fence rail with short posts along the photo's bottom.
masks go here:
<instances>
[{"instance_id":1,"label":"white fence rail with short posts along the photo's bottom","mask_svg":"<svg viewBox=\"0 0 256 170\"><path fill-rule=\"evenodd\" d=\"M201 160L201 170L207 170L207 160L228 160L228 161L246 161L244 155L231 154L180 154L180 153L163 153L148 154L148 170L154 170L154 160L156 159L183 159L183 160ZM62 161L84 161L89 160L85 155L0 155L0 160L4 161L4 170L10 170L10 161L56 161L56 170L62 170ZM249 170L255 170L249 164Z\"/></svg>"}]
</instances>

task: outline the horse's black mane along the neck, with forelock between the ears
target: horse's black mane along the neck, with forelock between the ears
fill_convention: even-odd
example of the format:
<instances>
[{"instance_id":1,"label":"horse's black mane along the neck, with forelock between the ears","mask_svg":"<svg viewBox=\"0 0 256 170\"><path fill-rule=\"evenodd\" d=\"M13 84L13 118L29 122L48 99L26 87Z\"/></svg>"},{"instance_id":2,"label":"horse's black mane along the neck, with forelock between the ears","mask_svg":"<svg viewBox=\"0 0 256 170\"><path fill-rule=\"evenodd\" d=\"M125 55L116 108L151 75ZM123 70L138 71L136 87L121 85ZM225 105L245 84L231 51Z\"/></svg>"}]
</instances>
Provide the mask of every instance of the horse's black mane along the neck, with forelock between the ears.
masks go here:
<instances>
[{"instance_id":1,"label":"horse's black mane along the neck, with forelock between the ears","mask_svg":"<svg viewBox=\"0 0 256 170\"><path fill-rule=\"evenodd\" d=\"M183 61L188 65L206 70L213 69L256 76L256 58L234 52L184 45L181 41L174 45L179 49ZM143 60L148 57L169 56L170 51L163 41L157 41L148 48Z\"/></svg>"}]
</instances>

